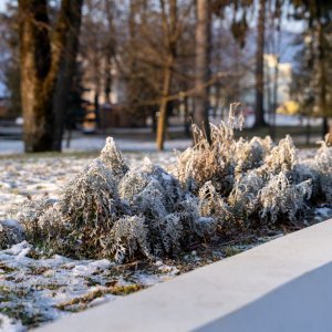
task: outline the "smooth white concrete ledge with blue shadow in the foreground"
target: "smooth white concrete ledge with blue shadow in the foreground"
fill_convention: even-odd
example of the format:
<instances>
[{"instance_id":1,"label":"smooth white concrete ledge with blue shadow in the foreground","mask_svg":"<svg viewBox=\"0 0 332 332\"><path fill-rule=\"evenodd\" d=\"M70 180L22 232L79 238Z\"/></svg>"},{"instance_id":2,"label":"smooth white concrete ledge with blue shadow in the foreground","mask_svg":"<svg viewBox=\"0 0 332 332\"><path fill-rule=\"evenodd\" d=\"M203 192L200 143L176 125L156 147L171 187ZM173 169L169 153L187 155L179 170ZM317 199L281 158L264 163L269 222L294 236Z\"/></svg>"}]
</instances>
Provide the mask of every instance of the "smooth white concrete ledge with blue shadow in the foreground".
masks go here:
<instances>
[{"instance_id":1,"label":"smooth white concrete ledge with blue shadow in the foreground","mask_svg":"<svg viewBox=\"0 0 332 332\"><path fill-rule=\"evenodd\" d=\"M332 331L332 219L38 331Z\"/></svg>"}]
</instances>

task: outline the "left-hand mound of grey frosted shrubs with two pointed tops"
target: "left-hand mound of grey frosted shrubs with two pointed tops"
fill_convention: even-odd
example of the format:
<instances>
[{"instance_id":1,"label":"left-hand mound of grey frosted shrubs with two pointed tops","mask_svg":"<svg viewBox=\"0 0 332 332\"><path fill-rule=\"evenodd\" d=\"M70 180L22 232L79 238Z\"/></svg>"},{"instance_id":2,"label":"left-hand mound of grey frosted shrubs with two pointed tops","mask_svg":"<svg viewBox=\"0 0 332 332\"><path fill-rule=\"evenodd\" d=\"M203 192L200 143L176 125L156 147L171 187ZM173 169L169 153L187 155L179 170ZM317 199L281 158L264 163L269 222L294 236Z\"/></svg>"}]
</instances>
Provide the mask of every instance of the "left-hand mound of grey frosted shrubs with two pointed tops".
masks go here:
<instances>
[{"instance_id":1,"label":"left-hand mound of grey frosted shrubs with two pointed tops","mask_svg":"<svg viewBox=\"0 0 332 332\"><path fill-rule=\"evenodd\" d=\"M197 200L165 169L145 159L129 169L113 139L58 200L29 200L19 216L29 240L74 257L172 255L211 234ZM210 222L209 222L210 221Z\"/></svg>"}]
</instances>

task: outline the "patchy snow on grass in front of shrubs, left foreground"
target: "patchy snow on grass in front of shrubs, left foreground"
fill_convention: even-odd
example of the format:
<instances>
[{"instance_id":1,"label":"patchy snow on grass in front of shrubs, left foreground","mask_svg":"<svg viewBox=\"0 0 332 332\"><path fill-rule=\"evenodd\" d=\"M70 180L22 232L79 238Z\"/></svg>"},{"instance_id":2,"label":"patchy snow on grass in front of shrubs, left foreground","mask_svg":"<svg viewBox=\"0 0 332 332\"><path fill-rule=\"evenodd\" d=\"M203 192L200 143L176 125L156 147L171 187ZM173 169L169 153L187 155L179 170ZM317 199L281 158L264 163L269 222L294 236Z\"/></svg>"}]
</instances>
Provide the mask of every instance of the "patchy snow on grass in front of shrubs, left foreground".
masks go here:
<instances>
[{"instance_id":1,"label":"patchy snow on grass in front of shrubs, left foreground","mask_svg":"<svg viewBox=\"0 0 332 332\"><path fill-rule=\"evenodd\" d=\"M105 295L103 301L114 300L112 293L118 290L125 293L133 286L134 290L145 288L178 272L175 267L160 270L156 264L155 273L137 269L117 276L118 267L106 259L72 260L58 255L35 259L34 255L27 241L0 251L1 331L54 320L100 303L96 298L101 294ZM9 317L15 317L15 322Z\"/></svg>"}]
</instances>

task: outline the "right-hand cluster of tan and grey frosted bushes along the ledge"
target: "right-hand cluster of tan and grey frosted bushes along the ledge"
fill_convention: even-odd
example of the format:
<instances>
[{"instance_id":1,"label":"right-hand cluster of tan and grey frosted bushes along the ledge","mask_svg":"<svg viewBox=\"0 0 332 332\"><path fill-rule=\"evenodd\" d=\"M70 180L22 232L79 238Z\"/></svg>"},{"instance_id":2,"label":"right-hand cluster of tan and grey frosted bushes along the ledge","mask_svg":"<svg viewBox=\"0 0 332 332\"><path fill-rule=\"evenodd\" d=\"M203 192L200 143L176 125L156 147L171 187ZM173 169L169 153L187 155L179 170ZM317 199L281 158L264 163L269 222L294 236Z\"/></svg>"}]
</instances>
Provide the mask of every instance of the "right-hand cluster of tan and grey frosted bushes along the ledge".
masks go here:
<instances>
[{"instance_id":1,"label":"right-hand cluster of tan and grey frosted bushes along the ledge","mask_svg":"<svg viewBox=\"0 0 332 332\"><path fill-rule=\"evenodd\" d=\"M175 174L199 196L203 216L214 217L225 231L259 224L274 227L277 220L304 225L320 191L324 203L331 203L331 148L323 146L313 165L300 163L290 136L278 145L269 136L236 139L234 129L240 124L232 113L211 126L211 144L195 127L196 145L177 157Z\"/></svg>"}]
</instances>

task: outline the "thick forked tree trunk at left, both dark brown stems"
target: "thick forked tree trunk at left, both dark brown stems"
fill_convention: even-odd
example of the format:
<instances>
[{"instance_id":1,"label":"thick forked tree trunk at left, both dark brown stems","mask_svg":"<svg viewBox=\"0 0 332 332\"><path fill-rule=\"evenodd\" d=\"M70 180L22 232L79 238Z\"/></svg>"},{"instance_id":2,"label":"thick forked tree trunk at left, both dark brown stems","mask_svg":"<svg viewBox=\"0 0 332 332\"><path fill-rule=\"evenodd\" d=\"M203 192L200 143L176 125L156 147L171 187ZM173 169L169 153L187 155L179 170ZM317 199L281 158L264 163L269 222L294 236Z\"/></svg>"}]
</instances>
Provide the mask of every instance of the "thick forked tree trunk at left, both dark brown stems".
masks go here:
<instances>
[{"instance_id":1,"label":"thick forked tree trunk at left, both dark brown stems","mask_svg":"<svg viewBox=\"0 0 332 332\"><path fill-rule=\"evenodd\" d=\"M62 0L51 30L46 0L19 0L25 152L60 151L83 0Z\"/></svg>"}]
</instances>

